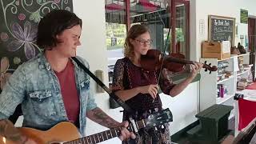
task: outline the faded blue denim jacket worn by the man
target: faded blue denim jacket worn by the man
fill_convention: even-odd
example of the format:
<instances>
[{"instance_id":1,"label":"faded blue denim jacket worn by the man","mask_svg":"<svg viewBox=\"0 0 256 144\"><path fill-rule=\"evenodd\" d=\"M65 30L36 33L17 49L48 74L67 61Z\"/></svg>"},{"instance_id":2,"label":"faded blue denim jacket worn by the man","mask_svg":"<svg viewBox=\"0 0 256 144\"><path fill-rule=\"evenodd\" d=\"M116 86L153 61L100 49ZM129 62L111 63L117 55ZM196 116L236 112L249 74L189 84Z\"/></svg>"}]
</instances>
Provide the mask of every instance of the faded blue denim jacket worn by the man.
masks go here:
<instances>
[{"instance_id":1,"label":"faded blue denim jacket worn by the man","mask_svg":"<svg viewBox=\"0 0 256 144\"><path fill-rule=\"evenodd\" d=\"M78 59L89 67L82 58ZM86 111L97 106L90 90L90 76L73 63L80 99L79 131L85 135ZM0 95L0 119L9 118L20 103L24 116L23 126L47 130L58 122L68 121L58 77L43 53L18 66L6 82Z\"/></svg>"}]
</instances>

